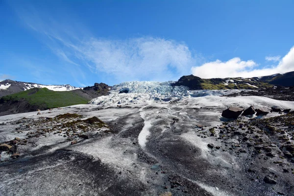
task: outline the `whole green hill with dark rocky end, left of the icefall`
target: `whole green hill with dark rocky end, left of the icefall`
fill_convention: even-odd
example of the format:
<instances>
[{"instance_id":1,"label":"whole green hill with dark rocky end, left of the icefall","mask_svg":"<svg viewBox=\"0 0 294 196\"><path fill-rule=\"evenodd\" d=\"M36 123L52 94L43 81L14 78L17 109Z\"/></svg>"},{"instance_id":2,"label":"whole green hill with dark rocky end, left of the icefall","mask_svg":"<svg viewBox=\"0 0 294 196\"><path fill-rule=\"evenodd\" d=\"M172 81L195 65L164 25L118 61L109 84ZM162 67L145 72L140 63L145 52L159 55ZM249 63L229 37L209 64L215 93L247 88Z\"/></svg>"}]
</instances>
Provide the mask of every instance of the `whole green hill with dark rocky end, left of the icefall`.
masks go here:
<instances>
[{"instance_id":1,"label":"whole green hill with dark rocky end, left of the icefall","mask_svg":"<svg viewBox=\"0 0 294 196\"><path fill-rule=\"evenodd\" d=\"M107 95L110 88L104 83L70 91L32 88L0 98L0 116L86 104L93 98Z\"/></svg>"}]
</instances>

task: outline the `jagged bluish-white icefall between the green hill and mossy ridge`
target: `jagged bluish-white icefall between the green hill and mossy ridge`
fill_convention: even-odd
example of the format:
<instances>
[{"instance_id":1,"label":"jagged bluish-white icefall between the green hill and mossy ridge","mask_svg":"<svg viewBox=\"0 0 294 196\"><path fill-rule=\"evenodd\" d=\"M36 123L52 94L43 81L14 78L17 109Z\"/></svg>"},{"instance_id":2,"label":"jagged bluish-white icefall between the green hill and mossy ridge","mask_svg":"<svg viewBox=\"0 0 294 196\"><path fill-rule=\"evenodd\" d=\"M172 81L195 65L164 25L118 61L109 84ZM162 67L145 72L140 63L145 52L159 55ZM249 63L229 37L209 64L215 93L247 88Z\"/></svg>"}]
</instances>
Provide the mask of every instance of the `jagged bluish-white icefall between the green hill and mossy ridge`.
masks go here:
<instances>
[{"instance_id":1,"label":"jagged bluish-white icefall between the green hill and mossy ridge","mask_svg":"<svg viewBox=\"0 0 294 196\"><path fill-rule=\"evenodd\" d=\"M168 102L191 97L222 96L236 93L240 90L194 90L185 86L172 86L172 81L132 81L113 86L108 96L92 99L89 103L95 105L136 104L151 102ZM127 93L121 93L127 92Z\"/></svg>"}]
</instances>

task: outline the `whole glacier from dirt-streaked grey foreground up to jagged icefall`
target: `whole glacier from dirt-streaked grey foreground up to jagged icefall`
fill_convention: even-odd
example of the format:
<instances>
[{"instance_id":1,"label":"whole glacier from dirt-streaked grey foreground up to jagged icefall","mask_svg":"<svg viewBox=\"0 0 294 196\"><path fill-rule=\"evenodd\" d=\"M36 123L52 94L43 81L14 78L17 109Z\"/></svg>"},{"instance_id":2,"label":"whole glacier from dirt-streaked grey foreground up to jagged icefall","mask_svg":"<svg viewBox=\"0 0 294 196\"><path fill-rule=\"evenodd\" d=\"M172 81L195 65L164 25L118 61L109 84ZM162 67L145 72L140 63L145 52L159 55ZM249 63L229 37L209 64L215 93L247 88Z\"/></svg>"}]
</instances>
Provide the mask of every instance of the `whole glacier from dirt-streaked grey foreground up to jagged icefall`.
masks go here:
<instances>
[{"instance_id":1,"label":"whole glacier from dirt-streaked grey foreground up to jagged icefall","mask_svg":"<svg viewBox=\"0 0 294 196\"><path fill-rule=\"evenodd\" d=\"M28 138L27 145L19 145L21 156L15 160L2 152L0 195L291 195L291 189L282 183L250 180L245 172L252 163L251 156L239 157L225 148L225 144L239 144L238 139L221 140L219 132L210 136L210 128L222 126L226 119L221 112L229 106L293 110L294 102L219 97L228 91L189 92L160 84L156 84L160 90L154 92L154 83L145 84L152 86L147 92L143 90L148 89L146 86L135 90L123 84L115 86L110 96L92 100L93 104L42 111L41 115L30 112L0 117L0 143L27 138L29 131L42 130L37 125L41 119L65 113L83 115L82 119L95 116L109 125L105 130L93 129L87 133L89 139L79 139L74 145L63 134ZM119 94L126 88L130 93ZM270 113L262 118L279 115ZM27 129L29 120L33 123ZM249 118L241 120L248 122ZM226 150L208 148L211 143ZM267 163L266 159L255 161L265 168ZM276 166L272 170L282 175ZM289 176L293 186L291 172Z\"/></svg>"}]
</instances>

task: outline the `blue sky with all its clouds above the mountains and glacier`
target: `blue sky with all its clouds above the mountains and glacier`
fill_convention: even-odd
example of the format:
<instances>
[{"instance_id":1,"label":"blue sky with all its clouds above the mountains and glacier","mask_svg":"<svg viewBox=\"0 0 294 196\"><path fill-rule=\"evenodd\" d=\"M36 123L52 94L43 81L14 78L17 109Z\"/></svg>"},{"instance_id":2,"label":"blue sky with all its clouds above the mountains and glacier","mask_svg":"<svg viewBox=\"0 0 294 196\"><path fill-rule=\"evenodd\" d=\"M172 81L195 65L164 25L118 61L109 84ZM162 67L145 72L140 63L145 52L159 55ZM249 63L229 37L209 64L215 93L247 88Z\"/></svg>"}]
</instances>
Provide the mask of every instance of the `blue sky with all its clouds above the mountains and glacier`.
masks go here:
<instances>
[{"instance_id":1,"label":"blue sky with all its clouds above the mountains and glacier","mask_svg":"<svg viewBox=\"0 0 294 196\"><path fill-rule=\"evenodd\" d=\"M114 85L294 71L293 0L0 1L0 80Z\"/></svg>"}]
</instances>

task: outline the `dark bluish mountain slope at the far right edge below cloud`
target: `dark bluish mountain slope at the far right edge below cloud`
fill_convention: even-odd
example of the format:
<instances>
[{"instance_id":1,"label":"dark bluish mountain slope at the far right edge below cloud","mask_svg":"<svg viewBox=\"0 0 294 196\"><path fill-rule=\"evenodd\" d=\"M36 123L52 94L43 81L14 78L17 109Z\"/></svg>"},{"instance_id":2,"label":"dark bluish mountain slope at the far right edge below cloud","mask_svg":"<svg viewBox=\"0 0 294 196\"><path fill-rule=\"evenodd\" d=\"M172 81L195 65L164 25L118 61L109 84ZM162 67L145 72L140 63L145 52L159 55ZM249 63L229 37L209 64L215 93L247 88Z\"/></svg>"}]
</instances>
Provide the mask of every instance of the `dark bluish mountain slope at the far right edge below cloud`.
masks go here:
<instances>
[{"instance_id":1,"label":"dark bluish mountain slope at the far right edge below cloud","mask_svg":"<svg viewBox=\"0 0 294 196\"><path fill-rule=\"evenodd\" d=\"M284 74L273 74L273 75L267 75L259 77L261 81L268 82L272 85L277 86L294 86L294 72L288 72Z\"/></svg>"}]
</instances>

